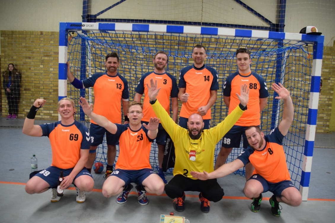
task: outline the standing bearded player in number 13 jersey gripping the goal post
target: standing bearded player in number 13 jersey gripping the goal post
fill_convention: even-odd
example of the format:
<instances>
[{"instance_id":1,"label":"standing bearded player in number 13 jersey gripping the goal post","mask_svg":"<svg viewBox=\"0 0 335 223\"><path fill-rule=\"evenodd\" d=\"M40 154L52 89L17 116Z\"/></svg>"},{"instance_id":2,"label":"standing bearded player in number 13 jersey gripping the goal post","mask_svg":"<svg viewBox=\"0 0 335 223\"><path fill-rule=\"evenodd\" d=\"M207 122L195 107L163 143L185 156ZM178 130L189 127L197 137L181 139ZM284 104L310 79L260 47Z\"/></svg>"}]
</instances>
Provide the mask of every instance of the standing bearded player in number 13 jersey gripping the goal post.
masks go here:
<instances>
[{"instance_id":1,"label":"standing bearded player in number 13 jersey gripping the goal post","mask_svg":"<svg viewBox=\"0 0 335 223\"><path fill-rule=\"evenodd\" d=\"M89 88L94 90L94 112L107 117L113 123L121 124L122 112L125 114L125 124L128 123L129 91L127 80L118 74L119 56L116 52L108 53L106 56L105 66L107 72L93 74L90 78L79 81L70 71L69 63L67 63L67 78L75 88ZM119 143L117 137L113 136L103 127L97 125L91 120L90 126L91 147L89 151L86 167L91 172L95 157L96 148L102 144L106 133L107 140L107 167L104 178L108 178L113 172L113 164L116 156L116 145Z\"/></svg>"}]
</instances>

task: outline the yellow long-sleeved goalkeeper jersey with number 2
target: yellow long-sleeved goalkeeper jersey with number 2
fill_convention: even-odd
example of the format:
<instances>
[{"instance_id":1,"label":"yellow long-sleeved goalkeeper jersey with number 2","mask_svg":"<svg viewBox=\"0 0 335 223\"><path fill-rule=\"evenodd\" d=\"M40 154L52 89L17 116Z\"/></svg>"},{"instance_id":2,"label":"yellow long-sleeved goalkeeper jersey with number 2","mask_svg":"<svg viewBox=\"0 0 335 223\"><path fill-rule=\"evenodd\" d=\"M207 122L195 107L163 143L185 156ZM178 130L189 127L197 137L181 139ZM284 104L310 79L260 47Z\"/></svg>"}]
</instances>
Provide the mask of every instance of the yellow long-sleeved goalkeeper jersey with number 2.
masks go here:
<instances>
[{"instance_id":1,"label":"yellow long-sleeved goalkeeper jersey with number 2","mask_svg":"<svg viewBox=\"0 0 335 223\"><path fill-rule=\"evenodd\" d=\"M191 171L213 172L216 144L243 114L237 106L217 126L203 130L199 139L191 139L188 130L177 125L158 100L151 106L175 144L176 163L173 175L182 174L191 179L195 179L190 174Z\"/></svg>"}]
</instances>

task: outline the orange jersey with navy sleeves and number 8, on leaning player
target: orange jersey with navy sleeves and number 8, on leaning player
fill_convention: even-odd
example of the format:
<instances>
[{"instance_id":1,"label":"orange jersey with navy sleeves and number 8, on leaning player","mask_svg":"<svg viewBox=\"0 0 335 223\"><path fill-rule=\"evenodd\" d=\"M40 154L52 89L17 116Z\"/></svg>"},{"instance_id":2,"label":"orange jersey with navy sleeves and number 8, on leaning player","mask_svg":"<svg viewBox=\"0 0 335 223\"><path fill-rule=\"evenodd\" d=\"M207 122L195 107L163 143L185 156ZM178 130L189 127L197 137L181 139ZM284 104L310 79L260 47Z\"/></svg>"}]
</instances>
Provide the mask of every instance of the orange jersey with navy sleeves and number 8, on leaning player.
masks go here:
<instances>
[{"instance_id":1,"label":"orange jersey with navy sleeves and number 8, on leaning player","mask_svg":"<svg viewBox=\"0 0 335 223\"><path fill-rule=\"evenodd\" d=\"M245 165L251 162L255 167L253 174L261 175L270 183L278 183L285 180L290 181L286 156L282 146L284 137L278 127L276 127L269 135L264 136L266 145L262 150L254 150L248 146L237 158Z\"/></svg>"}]
</instances>

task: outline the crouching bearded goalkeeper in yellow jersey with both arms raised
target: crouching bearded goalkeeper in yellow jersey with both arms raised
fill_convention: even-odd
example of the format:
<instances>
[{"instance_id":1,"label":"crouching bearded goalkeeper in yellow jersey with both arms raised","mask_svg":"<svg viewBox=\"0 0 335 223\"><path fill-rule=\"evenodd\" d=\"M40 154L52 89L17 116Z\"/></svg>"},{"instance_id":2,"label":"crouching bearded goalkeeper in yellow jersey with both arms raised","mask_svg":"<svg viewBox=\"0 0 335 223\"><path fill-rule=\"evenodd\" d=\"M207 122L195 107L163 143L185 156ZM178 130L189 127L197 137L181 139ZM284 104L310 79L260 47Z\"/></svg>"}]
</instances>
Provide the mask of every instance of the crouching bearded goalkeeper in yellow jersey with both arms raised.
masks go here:
<instances>
[{"instance_id":1,"label":"crouching bearded goalkeeper in yellow jersey with both arms raised","mask_svg":"<svg viewBox=\"0 0 335 223\"><path fill-rule=\"evenodd\" d=\"M176 210L185 210L185 191L198 191L201 201L200 210L209 212L209 201L218 202L224 195L223 189L216 179L201 181L190 174L191 171L212 172L214 170L214 151L216 144L224 134L241 117L247 109L249 89L247 85L241 86L240 95L237 94L240 104L217 126L203 130L204 122L199 114L191 114L188 129L177 125L159 104L156 97L160 88L157 82L150 80L148 96L150 104L166 132L175 143L176 163L173 171L174 177L165 185L165 193L176 201Z\"/></svg>"}]
</instances>

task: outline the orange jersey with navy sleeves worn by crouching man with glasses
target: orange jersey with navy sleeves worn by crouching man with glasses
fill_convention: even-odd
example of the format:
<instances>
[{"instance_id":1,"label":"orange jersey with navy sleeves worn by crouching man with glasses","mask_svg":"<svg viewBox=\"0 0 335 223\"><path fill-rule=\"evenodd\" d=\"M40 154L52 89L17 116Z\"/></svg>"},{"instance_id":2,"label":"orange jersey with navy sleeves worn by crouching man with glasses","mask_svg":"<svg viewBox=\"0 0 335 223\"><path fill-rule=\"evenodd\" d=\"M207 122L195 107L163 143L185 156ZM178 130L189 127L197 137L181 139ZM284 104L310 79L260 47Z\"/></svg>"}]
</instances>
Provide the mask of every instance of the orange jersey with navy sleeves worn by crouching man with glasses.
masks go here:
<instances>
[{"instance_id":1,"label":"orange jersey with navy sleeves worn by crouching man with glasses","mask_svg":"<svg viewBox=\"0 0 335 223\"><path fill-rule=\"evenodd\" d=\"M151 142L154 139L148 137L148 130L142 127L133 131L129 124L116 124L118 130L115 133L119 137L119 157L115 164L115 169L141 170L151 169L149 156Z\"/></svg>"}]
</instances>

